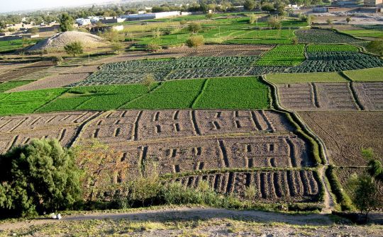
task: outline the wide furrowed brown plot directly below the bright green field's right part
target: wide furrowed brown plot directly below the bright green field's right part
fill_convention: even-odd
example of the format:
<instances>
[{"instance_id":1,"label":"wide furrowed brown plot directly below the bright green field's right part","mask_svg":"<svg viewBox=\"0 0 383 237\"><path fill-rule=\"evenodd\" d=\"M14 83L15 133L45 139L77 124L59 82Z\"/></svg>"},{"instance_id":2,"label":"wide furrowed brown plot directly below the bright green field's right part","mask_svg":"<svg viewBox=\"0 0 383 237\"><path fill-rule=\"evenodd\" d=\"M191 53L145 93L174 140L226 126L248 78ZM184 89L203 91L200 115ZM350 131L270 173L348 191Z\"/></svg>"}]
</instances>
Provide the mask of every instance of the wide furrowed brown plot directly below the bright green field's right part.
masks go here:
<instances>
[{"instance_id":1,"label":"wide furrowed brown plot directly below the bright green field's right part","mask_svg":"<svg viewBox=\"0 0 383 237\"><path fill-rule=\"evenodd\" d=\"M118 110L87 126L82 139L121 141L196 135L292 132L283 114L269 110Z\"/></svg>"}]
</instances>

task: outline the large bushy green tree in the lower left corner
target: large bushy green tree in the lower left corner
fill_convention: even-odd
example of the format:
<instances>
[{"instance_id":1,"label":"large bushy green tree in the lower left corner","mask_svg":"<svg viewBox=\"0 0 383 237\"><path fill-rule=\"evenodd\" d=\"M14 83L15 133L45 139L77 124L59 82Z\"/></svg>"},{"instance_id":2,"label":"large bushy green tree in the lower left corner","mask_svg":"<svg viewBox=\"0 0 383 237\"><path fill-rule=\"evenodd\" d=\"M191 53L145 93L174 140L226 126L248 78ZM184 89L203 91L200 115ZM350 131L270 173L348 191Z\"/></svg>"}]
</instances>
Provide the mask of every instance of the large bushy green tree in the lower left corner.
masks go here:
<instances>
[{"instance_id":1,"label":"large bushy green tree in the lower left corner","mask_svg":"<svg viewBox=\"0 0 383 237\"><path fill-rule=\"evenodd\" d=\"M0 155L0 208L16 216L67 209L81 197L72 151L33 140ZM3 212L1 211L1 212Z\"/></svg>"}]
</instances>

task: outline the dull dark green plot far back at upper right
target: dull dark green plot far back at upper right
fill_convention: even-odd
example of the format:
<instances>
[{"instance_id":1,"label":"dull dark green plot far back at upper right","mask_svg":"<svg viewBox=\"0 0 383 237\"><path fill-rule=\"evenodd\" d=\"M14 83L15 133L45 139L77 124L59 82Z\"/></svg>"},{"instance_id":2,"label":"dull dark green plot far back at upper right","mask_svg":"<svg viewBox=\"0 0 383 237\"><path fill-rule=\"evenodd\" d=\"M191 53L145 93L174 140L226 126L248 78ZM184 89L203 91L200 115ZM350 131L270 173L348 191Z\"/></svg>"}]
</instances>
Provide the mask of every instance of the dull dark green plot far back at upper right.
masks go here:
<instances>
[{"instance_id":1,"label":"dull dark green plot far back at upper right","mask_svg":"<svg viewBox=\"0 0 383 237\"><path fill-rule=\"evenodd\" d=\"M296 30L295 35L301 43L339 44L363 41L350 35L337 33L335 30L325 29Z\"/></svg>"}]
</instances>

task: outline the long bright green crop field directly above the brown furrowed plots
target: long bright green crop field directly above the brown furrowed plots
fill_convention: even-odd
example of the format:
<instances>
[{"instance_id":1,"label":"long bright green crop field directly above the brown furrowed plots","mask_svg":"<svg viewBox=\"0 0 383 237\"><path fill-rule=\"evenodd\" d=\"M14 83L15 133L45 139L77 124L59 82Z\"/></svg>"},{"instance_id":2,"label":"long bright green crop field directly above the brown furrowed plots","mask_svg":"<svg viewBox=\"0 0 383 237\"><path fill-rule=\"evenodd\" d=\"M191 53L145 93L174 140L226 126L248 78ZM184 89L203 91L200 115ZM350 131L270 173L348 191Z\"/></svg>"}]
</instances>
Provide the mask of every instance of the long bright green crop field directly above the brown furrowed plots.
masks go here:
<instances>
[{"instance_id":1,"label":"long bright green crop field directly above the brown furrowed plots","mask_svg":"<svg viewBox=\"0 0 383 237\"><path fill-rule=\"evenodd\" d=\"M67 110L265 109L269 88L258 77L176 80L0 93L0 115Z\"/></svg>"}]
</instances>

